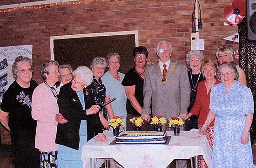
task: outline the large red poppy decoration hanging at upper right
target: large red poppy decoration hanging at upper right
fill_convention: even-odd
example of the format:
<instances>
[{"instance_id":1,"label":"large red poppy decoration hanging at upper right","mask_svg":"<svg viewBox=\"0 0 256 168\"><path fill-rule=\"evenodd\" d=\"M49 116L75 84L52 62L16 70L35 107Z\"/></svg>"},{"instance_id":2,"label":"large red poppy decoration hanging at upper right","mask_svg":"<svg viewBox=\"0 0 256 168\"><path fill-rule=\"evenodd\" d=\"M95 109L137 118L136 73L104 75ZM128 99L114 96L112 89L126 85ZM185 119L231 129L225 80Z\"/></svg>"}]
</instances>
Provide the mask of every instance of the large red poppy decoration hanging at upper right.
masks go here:
<instances>
[{"instance_id":1,"label":"large red poppy decoration hanging at upper right","mask_svg":"<svg viewBox=\"0 0 256 168\"><path fill-rule=\"evenodd\" d=\"M233 24L241 23L246 15L245 0L234 0L232 5L225 7L224 15Z\"/></svg>"}]
</instances>

